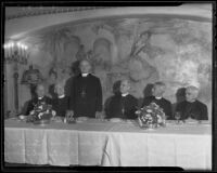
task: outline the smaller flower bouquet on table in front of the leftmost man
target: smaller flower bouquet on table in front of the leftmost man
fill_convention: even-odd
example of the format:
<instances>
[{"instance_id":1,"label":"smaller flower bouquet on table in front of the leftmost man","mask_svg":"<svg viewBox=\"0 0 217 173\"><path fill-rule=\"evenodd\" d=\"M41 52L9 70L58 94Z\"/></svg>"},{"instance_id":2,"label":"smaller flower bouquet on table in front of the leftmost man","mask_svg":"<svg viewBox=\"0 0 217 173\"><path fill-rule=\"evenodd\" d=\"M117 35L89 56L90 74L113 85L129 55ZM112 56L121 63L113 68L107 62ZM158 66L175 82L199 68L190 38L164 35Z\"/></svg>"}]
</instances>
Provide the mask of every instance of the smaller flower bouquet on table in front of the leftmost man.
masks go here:
<instances>
[{"instance_id":1,"label":"smaller flower bouquet on table in front of the leftmost man","mask_svg":"<svg viewBox=\"0 0 217 173\"><path fill-rule=\"evenodd\" d=\"M27 122L34 124L47 124L50 123L51 118L54 118L56 112L52 110L52 105L48 105L44 102L37 103L34 106L34 110L30 111Z\"/></svg>"}]
</instances>

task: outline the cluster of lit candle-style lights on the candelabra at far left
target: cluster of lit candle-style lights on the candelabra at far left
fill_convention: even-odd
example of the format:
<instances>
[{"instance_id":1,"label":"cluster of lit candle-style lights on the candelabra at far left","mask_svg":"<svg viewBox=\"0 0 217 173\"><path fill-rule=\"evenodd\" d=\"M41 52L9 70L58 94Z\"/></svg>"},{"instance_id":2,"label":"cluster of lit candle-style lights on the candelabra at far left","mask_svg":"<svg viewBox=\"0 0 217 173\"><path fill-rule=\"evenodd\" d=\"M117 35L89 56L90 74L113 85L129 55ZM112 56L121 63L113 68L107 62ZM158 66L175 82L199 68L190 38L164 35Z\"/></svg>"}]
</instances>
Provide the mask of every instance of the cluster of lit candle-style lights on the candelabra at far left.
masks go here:
<instances>
[{"instance_id":1,"label":"cluster of lit candle-style lights on the candelabra at far left","mask_svg":"<svg viewBox=\"0 0 217 173\"><path fill-rule=\"evenodd\" d=\"M10 41L4 44L4 59L8 64L22 64L27 65L29 53L27 52L28 46L21 43Z\"/></svg>"}]
</instances>

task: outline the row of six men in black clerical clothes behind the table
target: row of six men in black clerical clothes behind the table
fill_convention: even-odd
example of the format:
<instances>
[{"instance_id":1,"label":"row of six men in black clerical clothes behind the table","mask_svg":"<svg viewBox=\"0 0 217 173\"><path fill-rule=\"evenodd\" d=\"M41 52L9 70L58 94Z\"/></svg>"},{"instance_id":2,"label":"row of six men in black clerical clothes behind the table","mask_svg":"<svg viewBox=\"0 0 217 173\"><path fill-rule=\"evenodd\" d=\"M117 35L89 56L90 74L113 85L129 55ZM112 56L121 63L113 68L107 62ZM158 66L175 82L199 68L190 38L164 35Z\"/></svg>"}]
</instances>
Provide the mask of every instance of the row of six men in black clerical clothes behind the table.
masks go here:
<instances>
[{"instance_id":1,"label":"row of six men in black clerical clothes behind the table","mask_svg":"<svg viewBox=\"0 0 217 173\"><path fill-rule=\"evenodd\" d=\"M64 84L55 84L56 98L46 96L46 88L38 84L36 89L37 96L33 98L27 107L26 115L34 109L38 102L51 104L58 116L65 117L66 111L74 117L89 118L120 118L136 119L136 111L139 107L138 99L130 94L130 81L124 79L120 81L119 93L114 94L108 104L102 107L102 88L98 77L92 75L91 64L87 59L80 62L81 74L74 77L71 83L71 93L65 94ZM167 119L174 119L171 103L163 97L166 85L163 82L155 82L152 89L152 96L143 98L142 107L151 103L157 104L165 112ZM178 103L175 111L179 111L182 120L191 118L196 120L207 120L207 107L197 101L199 89L188 86L186 89L186 101Z\"/></svg>"}]
</instances>

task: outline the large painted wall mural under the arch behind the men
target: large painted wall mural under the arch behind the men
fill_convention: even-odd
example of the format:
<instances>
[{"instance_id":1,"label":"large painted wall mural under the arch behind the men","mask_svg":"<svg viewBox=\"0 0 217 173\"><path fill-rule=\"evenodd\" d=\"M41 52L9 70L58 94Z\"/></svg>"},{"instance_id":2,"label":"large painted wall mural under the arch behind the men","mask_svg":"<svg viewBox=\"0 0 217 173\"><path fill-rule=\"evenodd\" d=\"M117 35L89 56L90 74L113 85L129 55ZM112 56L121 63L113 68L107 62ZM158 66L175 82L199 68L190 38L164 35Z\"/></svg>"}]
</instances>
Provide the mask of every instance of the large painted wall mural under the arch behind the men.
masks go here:
<instances>
[{"instance_id":1,"label":"large painted wall mural under the arch behind the men","mask_svg":"<svg viewBox=\"0 0 217 173\"><path fill-rule=\"evenodd\" d=\"M25 38L40 51L33 62L48 79L54 68L67 80L73 62L82 57L94 65L103 85L103 99L115 81L128 77L132 94L157 80L167 84L165 97L176 102L177 90L201 88L200 98L212 99L212 23L169 17L107 18L46 28ZM40 57L39 57L40 54ZM35 57L38 57L36 61Z\"/></svg>"}]
</instances>

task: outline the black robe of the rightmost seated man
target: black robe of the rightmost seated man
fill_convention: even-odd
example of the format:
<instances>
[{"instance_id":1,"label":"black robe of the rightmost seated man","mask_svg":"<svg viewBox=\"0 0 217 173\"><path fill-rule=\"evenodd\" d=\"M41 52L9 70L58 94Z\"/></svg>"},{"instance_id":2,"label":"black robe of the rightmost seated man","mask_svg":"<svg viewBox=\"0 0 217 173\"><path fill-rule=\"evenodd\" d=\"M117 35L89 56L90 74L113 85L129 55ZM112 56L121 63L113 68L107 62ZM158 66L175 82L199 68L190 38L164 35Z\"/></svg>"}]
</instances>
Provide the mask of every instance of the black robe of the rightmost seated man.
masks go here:
<instances>
[{"instance_id":1,"label":"black robe of the rightmost seated man","mask_svg":"<svg viewBox=\"0 0 217 173\"><path fill-rule=\"evenodd\" d=\"M180 111L181 120L192 118L196 120L208 120L207 106L200 101L193 103L183 101L176 107L176 111Z\"/></svg>"}]
</instances>

